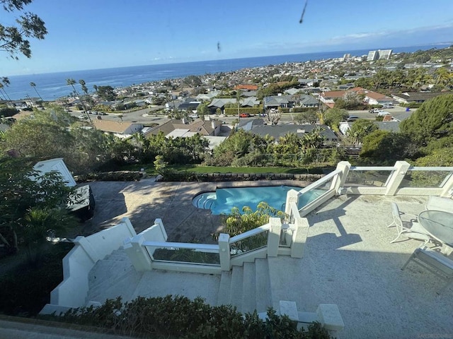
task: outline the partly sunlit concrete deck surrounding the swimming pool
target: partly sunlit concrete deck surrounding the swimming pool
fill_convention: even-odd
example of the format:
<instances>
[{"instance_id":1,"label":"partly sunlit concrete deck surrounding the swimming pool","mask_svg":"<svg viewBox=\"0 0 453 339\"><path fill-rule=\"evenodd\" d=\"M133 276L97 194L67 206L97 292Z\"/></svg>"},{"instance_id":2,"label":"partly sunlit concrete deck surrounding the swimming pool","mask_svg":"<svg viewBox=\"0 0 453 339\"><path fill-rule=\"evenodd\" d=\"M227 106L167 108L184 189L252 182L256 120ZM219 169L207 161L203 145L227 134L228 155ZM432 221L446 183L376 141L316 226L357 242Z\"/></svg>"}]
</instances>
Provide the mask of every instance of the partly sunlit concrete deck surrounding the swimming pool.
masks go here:
<instances>
[{"instance_id":1,"label":"partly sunlit concrete deck surrounding the swimming pool","mask_svg":"<svg viewBox=\"0 0 453 339\"><path fill-rule=\"evenodd\" d=\"M156 218L164 222L168 242L214 243L211 234L222 227L222 217L210 210L196 208L192 199L200 193L215 191L217 187L246 186L307 186L310 182L297 180L256 180L246 182L90 182L96 200L94 216L83 225L82 234L88 235L117 225L121 218L130 218L137 233L154 224ZM74 234L76 235L76 234Z\"/></svg>"}]
</instances>

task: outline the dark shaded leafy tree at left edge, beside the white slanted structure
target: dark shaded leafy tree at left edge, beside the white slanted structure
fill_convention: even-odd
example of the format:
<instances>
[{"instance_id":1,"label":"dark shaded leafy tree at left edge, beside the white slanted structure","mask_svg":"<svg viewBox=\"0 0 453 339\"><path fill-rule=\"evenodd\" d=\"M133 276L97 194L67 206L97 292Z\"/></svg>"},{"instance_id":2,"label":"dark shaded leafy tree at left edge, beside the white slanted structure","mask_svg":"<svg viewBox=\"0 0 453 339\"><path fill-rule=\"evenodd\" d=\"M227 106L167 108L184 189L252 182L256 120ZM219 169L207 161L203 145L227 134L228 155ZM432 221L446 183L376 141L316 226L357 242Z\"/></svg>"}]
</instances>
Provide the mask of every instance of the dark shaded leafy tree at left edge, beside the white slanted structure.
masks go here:
<instances>
[{"instance_id":1,"label":"dark shaded leafy tree at left edge, beside the white slanted structure","mask_svg":"<svg viewBox=\"0 0 453 339\"><path fill-rule=\"evenodd\" d=\"M47 230L74 220L64 208L72 190L58 172L43 174L32 169L35 162L33 158L0 158L0 241L10 251L27 246L32 263L36 259L32 249L42 245Z\"/></svg>"}]
</instances>

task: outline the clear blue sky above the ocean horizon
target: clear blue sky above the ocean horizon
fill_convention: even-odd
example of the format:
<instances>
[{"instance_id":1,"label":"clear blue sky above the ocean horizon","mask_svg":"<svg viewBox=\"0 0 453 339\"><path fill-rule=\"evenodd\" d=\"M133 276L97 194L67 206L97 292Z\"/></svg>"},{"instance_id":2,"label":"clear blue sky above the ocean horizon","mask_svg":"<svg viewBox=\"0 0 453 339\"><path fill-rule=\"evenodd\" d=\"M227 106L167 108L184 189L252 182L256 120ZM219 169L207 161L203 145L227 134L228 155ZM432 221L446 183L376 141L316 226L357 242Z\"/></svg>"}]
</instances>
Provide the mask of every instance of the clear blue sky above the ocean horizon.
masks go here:
<instances>
[{"instance_id":1,"label":"clear blue sky above the ocean horizon","mask_svg":"<svg viewBox=\"0 0 453 339\"><path fill-rule=\"evenodd\" d=\"M34 0L49 34L11 76L120 66L379 49L453 40L453 0ZM14 16L1 10L0 22ZM220 50L217 49L219 43Z\"/></svg>"}]
</instances>

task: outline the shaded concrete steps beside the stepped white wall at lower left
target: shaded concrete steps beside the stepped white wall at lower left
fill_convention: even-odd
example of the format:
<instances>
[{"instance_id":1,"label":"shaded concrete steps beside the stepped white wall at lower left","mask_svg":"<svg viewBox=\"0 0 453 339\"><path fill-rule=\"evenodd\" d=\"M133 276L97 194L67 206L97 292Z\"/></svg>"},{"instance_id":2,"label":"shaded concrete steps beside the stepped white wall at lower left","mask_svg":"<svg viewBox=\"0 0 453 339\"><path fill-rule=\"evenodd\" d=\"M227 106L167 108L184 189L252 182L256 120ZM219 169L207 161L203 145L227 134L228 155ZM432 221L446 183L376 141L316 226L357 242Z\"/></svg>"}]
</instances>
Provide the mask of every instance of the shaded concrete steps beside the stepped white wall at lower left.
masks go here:
<instances>
[{"instance_id":1,"label":"shaded concrete steps beside the stepped white wall at lower left","mask_svg":"<svg viewBox=\"0 0 453 339\"><path fill-rule=\"evenodd\" d=\"M121 295L123 300L130 299L140 278L142 273L134 269L126 252L117 249L96 262L88 273L89 290L86 302L102 304L106 299L115 299L118 295Z\"/></svg>"}]
</instances>

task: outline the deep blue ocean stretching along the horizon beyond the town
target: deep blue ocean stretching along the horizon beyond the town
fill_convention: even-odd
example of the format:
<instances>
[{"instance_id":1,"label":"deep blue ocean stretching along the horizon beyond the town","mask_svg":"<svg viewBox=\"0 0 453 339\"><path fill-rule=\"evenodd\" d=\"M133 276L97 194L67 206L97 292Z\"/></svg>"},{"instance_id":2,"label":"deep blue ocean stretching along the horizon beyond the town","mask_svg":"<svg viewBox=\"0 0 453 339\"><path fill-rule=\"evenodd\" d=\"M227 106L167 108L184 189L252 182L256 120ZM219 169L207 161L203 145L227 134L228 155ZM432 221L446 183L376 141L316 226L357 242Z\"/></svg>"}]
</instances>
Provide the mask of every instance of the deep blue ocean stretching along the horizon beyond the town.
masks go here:
<instances>
[{"instance_id":1,"label":"deep blue ocean stretching along the horizon beyond the town","mask_svg":"<svg viewBox=\"0 0 453 339\"><path fill-rule=\"evenodd\" d=\"M445 48L448 46L449 44L432 44L428 46L394 47L389 49L393 49L395 53L398 53L415 52L420 49ZM37 97L38 95L35 90L30 86L30 82L33 82L36 84L36 90L38 90L38 93L44 100L55 100L58 97L67 96L72 92L71 86L66 83L67 78L73 78L77 82L83 79L86 82L88 90L93 92L93 85L110 85L113 88L125 87L168 78L183 78L190 75L200 76L207 73L230 72L239 69L284 64L285 62L339 58L343 57L346 53L350 53L352 56L362 56L368 54L368 52L369 49L361 49L354 51L275 55L271 57L195 61L179 64L130 66L113 69L91 69L85 71L9 76L10 85L4 89L11 100L23 99L28 96ZM79 87L79 85L76 85L76 88Z\"/></svg>"}]
</instances>

